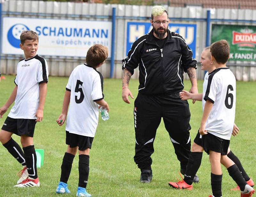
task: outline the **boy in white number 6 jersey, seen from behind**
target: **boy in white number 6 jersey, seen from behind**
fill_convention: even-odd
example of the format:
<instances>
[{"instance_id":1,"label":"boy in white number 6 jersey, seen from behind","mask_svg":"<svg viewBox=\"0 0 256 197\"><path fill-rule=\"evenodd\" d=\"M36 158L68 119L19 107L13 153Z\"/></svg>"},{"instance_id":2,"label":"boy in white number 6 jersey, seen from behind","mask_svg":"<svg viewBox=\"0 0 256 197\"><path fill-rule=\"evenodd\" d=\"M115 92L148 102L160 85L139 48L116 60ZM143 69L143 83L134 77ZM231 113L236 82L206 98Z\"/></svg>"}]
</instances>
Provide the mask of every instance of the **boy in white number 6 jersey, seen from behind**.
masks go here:
<instances>
[{"instance_id":1,"label":"boy in white number 6 jersey, seen from behind","mask_svg":"<svg viewBox=\"0 0 256 197\"><path fill-rule=\"evenodd\" d=\"M209 75L206 90L204 87L203 117L199 129L204 151L209 155L211 163L213 194L210 197L222 196L220 163L240 187L241 196L252 196L255 190L246 183L237 165L227 156L236 107L236 78L226 66L230 51L228 42L214 42L210 51L216 70Z\"/></svg>"}]
</instances>

